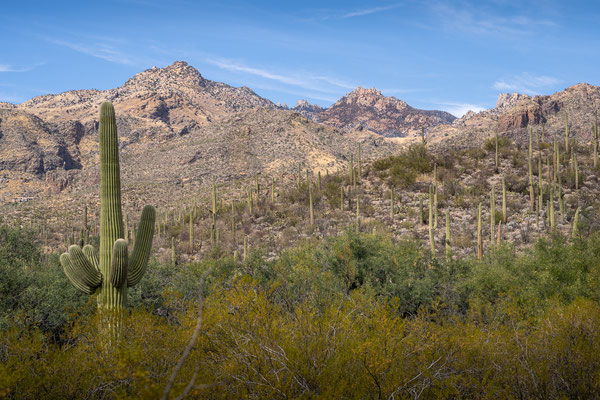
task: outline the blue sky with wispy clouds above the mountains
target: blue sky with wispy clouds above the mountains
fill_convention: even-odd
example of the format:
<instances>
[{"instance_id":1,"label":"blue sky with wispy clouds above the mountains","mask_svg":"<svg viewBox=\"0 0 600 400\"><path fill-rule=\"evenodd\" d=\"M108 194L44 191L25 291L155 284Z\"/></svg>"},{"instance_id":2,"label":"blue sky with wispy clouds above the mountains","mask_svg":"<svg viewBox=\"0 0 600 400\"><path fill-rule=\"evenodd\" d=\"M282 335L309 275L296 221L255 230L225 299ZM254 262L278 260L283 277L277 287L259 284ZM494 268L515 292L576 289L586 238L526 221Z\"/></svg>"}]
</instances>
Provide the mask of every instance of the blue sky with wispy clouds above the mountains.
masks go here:
<instances>
[{"instance_id":1,"label":"blue sky with wispy clouds above the mountains","mask_svg":"<svg viewBox=\"0 0 600 400\"><path fill-rule=\"evenodd\" d=\"M109 89L185 60L274 102L357 86L461 115L498 93L600 84L600 2L6 1L0 101Z\"/></svg>"}]
</instances>

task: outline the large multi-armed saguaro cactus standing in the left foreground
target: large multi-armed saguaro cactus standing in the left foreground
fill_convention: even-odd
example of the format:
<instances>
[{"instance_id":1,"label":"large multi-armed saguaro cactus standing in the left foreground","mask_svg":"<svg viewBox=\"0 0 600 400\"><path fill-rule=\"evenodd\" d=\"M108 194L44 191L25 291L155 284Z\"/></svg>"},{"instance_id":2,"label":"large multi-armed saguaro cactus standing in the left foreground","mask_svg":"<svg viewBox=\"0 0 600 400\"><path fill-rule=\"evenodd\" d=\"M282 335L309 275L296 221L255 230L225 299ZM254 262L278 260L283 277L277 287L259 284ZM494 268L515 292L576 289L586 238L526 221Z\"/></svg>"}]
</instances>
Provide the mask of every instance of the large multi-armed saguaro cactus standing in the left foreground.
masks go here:
<instances>
[{"instance_id":1,"label":"large multi-armed saguaro cactus standing in the left foreground","mask_svg":"<svg viewBox=\"0 0 600 400\"><path fill-rule=\"evenodd\" d=\"M131 255L124 239L121 211L119 143L115 110L111 103L100 107L100 259L94 248L73 245L60 256L67 278L77 289L93 294L99 289L98 308L120 310L127 306L127 288L146 272L152 237L154 207L145 206Z\"/></svg>"}]
</instances>

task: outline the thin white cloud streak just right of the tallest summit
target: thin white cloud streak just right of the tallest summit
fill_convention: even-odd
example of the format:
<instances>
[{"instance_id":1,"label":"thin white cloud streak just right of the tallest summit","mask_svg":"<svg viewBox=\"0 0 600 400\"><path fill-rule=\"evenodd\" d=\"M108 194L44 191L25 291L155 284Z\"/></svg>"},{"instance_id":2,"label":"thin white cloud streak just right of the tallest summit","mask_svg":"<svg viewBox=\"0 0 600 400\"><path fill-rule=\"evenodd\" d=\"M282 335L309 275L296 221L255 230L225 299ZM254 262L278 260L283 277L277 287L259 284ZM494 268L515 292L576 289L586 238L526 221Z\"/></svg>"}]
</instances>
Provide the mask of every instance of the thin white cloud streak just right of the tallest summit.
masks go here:
<instances>
[{"instance_id":1,"label":"thin white cloud streak just right of the tallest summit","mask_svg":"<svg viewBox=\"0 0 600 400\"><path fill-rule=\"evenodd\" d=\"M222 58L208 57L205 61L227 71L250 74L285 85L321 93L338 94L340 89L353 89L356 87L356 85L326 75L314 75L303 72L283 74Z\"/></svg>"}]
</instances>

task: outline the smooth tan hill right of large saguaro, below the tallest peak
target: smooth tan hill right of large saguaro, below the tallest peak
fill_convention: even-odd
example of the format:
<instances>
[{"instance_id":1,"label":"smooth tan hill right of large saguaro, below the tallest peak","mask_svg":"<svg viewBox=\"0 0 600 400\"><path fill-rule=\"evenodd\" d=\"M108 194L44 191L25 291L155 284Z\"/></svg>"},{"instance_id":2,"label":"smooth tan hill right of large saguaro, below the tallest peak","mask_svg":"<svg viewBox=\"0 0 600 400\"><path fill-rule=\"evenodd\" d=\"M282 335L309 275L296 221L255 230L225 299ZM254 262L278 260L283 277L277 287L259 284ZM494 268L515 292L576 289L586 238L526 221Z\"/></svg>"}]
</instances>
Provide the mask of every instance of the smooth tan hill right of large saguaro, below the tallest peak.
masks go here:
<instances>
[{"instance_id":1,"label":"smooth tan hill right of large saguaro, below the tallest peak","mask_svg":"<svg viewBox=\"0 0 600 400\"><path fill-rule=\"evenodd\" d=\"M294 174L298 165L317 171L345 167L362 143L363 157L398 150L371 132L341 132L290 110L256 108L233 114L157 146L136 143L122 158L124 184L227 181L256 173ZM169 185L167 185L167 188ZM163 194L164 196L164 194ZM168 197L168 196L167 196Z\"/></svg>"}]
</instances>

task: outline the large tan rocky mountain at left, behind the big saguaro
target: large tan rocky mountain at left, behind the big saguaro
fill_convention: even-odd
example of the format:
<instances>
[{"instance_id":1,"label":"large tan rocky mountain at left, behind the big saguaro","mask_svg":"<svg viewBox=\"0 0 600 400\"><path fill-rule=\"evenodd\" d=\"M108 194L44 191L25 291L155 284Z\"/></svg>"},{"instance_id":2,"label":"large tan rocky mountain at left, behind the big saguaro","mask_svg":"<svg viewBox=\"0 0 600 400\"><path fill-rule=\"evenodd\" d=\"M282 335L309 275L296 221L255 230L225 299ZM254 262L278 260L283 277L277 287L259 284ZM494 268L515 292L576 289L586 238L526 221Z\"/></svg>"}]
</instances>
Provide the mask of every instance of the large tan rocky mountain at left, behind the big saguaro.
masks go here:
<instances>
[{"instance_id":1,"label":"large tan rocky mountain at left, behind the big saguaro","mask_svg":"<svg viewBox=\"0 0 600 400\"><path fill-rule=\"evenodd\" d=\"M319 125L248 88L212 82L176 62L143 71L115 89L38 96L3 108L10 119L0 117L0 172L13 182L19 180L14 171L35 174L10 190L95 193L97 118L104 101L111 101L117 113L124 187L155 191L141 196L148 201L163 201L174 187L204 184L210 176L229 180L292 173L298 164L313 170L341 167L358 141L365 158L398 149L378 134ZM298 106L305 112L322 110L303 102ZM71 168L77 170L65 171Z\"/></svg>"}]
</instances>

